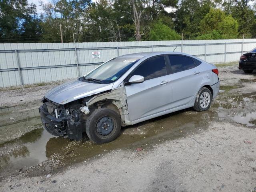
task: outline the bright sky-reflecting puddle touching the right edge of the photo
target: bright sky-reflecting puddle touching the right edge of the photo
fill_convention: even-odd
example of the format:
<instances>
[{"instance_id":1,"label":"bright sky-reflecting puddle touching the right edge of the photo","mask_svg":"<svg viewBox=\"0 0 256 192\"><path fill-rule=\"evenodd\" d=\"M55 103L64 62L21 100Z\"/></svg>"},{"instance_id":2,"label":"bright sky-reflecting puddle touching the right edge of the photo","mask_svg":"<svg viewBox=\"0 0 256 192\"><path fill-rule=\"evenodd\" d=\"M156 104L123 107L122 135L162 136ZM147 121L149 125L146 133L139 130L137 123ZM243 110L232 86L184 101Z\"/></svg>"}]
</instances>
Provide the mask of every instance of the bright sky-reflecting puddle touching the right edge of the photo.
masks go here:
<instances>
[{"instance_id":1,"label":"bright sky-reflecting puddle touching the right edge of the photo","mask_svg":"<svg viewBox=\"0 0 256 192\"><path fill-rule=\"evenodd\" d=\"M256 128L256 112L238 114L231 117L234 122Z\"/></svg>"}]
</instances>

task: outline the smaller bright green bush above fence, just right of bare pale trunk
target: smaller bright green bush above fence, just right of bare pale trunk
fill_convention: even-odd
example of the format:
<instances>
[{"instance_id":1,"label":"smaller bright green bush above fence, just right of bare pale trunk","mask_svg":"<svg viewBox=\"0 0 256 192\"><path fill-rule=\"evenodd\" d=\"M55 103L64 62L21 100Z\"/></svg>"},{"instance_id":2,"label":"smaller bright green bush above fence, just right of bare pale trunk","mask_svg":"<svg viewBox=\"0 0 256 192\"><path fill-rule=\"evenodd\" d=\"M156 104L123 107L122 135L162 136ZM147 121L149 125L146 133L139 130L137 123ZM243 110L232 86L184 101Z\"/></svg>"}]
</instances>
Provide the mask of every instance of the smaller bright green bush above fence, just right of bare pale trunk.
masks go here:
<instances>
[{"instance_id":1,"label":"smaller bright green bush above fence, just right of bare pale trunk","mask_svg":"<svg viewBox=\"0 0 256 192\"><path fill-rule=\"evenodd\" d=\"M149 32L149 39L151 41L160 40L180 40L181 36L170 27L164 25L161 21L153 24Z\"/></svg>"}]
</instances>

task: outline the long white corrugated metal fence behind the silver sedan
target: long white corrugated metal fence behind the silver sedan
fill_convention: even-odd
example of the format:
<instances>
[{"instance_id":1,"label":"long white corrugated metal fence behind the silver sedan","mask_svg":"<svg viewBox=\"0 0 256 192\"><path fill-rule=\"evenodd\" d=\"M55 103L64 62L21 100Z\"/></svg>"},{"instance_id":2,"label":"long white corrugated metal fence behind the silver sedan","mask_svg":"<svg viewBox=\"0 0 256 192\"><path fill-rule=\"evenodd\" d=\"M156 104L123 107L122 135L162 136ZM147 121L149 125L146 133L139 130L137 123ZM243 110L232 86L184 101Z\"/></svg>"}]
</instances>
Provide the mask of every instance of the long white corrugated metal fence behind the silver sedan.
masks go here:
<instances>
[{"instance_id":1,"label":"long white corrugated metal fence behind the silver sedan","mask_svg":"<svg viewBox=\"0 0 256 192\"><path fill-rule=\"evenodd\" d=\"M77 78L118 55L174 51L207 62L238 61L256 39L0 44L0 87ZM100 52L100 58L92 58ZM78 74L79 72L79 74Z\"/></svg>"}]
</instances>

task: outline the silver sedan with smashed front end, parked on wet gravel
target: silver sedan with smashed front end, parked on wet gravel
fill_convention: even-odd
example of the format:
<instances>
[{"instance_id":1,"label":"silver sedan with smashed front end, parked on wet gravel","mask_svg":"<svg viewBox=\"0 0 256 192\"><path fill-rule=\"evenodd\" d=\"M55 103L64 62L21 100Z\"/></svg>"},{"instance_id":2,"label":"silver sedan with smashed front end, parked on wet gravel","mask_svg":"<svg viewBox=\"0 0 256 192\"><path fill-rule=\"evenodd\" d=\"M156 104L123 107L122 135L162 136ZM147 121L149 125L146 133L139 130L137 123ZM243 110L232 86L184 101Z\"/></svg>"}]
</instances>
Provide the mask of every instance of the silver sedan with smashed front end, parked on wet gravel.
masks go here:
<instances>
[{"instance_id":1,"label":"silver sedan with smashed front end, parked on wet gravel","mask_svg":"<svg viewBox=\"0 0 256 192\"><path fill-rule=\"evenodd\" d=\"M81 140L86 133L106 143L122 126L190 107L208 110L219 88L214 64L180 52L142 52L53 88L39 110L50 134Z\"/></svg>"}]
</instances>

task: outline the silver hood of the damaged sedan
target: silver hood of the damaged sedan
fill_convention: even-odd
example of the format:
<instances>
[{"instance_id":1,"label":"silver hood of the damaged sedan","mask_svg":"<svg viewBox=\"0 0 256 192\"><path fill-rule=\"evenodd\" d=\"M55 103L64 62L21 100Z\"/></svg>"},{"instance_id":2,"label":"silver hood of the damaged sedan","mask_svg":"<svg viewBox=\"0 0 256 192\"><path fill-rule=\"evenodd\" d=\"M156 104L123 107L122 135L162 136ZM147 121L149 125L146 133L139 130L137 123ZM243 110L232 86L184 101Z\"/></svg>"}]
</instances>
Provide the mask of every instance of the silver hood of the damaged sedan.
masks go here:
<instances>
[{"instance_id":1,"label":"silver hood of the damaged sedan","mask_svg":"<svg viewBox=\"0 0 256 192\"><path fill-rule=\"evenodd\" d=\"M91 96L112 89L111 84L97 84L73 80L51 89L45 97L58 104L66 104L74 100Z\"/></svg>"}]
</instances>

